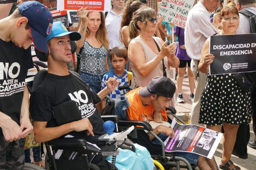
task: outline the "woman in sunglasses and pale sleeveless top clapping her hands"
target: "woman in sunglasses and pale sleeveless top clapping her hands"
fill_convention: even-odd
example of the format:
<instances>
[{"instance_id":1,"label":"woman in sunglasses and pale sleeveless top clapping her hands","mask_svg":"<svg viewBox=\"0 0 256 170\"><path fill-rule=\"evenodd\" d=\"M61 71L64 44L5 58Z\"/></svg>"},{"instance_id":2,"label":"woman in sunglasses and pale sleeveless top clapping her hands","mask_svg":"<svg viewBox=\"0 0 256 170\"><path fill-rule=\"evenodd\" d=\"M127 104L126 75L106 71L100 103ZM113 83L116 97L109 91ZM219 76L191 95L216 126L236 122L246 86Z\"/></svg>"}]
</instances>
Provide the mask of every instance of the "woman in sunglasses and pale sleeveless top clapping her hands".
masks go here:
<instances>
[{"instance_id":1,"label":"woman in sunglasses and pale sleeveless top clapping her hands","mask_svg":"<svg viewBox=\"0 0 256 170\"><path fill-rule=\"evenodd\" d=\"M152 8L140 8L130 22L128 56L133 72L132 87L145 87L157 76L170 78L169 67L179 66L176 43L167 46L167 41L153 36L158 27L156 15Z\"/></svg>"}]
</instances>

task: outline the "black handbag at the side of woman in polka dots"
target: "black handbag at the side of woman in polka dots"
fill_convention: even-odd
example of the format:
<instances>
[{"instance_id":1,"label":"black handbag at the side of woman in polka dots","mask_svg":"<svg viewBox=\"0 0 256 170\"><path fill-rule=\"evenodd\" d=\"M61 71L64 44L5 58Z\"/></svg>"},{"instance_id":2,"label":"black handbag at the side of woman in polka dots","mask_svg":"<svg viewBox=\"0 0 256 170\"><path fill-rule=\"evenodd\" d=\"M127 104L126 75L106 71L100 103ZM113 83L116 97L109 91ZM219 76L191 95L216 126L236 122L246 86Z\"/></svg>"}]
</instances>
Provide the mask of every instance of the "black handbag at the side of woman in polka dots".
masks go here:
<instances>
[{"instance_id":1,"label":"black handbag at the side of woman in polka dots","mask_svg":"<svg viewBox=\"0 0 256 170\"><path fill-rule=\"evenodd\" d=\"M248 90L253 90L254 80L250 73L236 73L234 74L234 79L237 84L241 87L243 92Z\"/></svg>"}]
</instances>

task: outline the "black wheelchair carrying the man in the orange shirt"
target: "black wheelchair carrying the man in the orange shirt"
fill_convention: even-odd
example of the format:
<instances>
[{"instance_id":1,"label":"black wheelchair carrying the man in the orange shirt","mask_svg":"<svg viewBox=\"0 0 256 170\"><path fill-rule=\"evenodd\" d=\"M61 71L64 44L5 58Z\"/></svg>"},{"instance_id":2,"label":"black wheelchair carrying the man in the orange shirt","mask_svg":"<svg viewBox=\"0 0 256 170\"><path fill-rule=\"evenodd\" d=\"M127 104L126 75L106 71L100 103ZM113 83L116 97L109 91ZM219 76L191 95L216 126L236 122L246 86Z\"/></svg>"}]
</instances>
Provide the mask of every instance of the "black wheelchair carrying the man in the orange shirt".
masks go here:
<instances>
[{"instance_id":1,"label":"black wheelchair carrying the man in the orange shirt","mask_svg":"<svg viewBox=\"0 0 256 170\"><path fill-rule=\"evenodd\" d=\"M132 87L130 87L129 85L119 87L119 90L123 90L123 89L133 90ZM112 105L113 107L114 105L113 100L109 96L107 96L107 100L109 101L109 103L111 103L110 105ZM182 121L182 119L180 119L178 116L175 115L176 110L172 106L169 106L169 108L166 108L166 111L167 111L167 115L172 115L179 122L181 122L182 124L185 124L185 122ZM126 115L127 115L127 112L126 112ZM168 122L171 123L172 120L169 118L169 116L167 117L168 117ZM159 161L163 167L166 167L166 169L169 169L170 167L175 167L176 169L180 169L180 168L185 168L189 170L196 169L197 165L194 165L188 162L187 159L182 158L180 156L176 156L175 153L166 153L163 141L161 140L161 138L159 138L157 135L153 133L152 131L153 129L148 122L130 121L127 119L121 119L119 117L119 121L118 121L119 130L123 130L129 127L130 125L134 125L135 130L133 130L132 133L129 134L129 139L133 143L137 143L141 146L146 147L149 153L151 154L151 157L153 158L153 160ZM145 133L145 130L147 130L150 134L152 134L161 143L161 145L151 143L149 141L148 134ZM218 166L217 166L217 169L218 169Z\"/></svg>"}]
</instances>

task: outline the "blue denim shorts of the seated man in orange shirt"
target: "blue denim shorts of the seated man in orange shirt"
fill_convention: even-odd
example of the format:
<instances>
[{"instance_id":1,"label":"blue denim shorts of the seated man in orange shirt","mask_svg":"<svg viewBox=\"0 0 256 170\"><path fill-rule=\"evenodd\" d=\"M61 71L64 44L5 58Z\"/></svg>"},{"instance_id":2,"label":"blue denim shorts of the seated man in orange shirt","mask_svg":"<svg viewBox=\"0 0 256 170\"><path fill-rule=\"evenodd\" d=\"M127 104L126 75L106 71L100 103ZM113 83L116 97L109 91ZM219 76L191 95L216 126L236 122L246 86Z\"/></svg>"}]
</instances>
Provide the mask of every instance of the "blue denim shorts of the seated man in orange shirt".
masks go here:
<instances>
[{"instance_id":1,"label":"blue denim shorts of the seated man in orange shirt","mask_svg":"<svg viewBox=\"0 0 256 170\"><path fill-rule=\"evenodd\" d=\"M157 136L160 137L162 141L165 141L166 138L168 137L163 133L160 133ZM154 144L161 144L159 142L159 140L157 140L156 138L154 138L151 142L154 143ZM177 156L180 156L182 158L186 158L188 160L188 162L193 163L194 165L197 165L197 161L198 161L198 158L199 158L198 154L194 154L194 153L190 153L190 152L174 152L174 153Z\"/></svg>"}]
</instances>

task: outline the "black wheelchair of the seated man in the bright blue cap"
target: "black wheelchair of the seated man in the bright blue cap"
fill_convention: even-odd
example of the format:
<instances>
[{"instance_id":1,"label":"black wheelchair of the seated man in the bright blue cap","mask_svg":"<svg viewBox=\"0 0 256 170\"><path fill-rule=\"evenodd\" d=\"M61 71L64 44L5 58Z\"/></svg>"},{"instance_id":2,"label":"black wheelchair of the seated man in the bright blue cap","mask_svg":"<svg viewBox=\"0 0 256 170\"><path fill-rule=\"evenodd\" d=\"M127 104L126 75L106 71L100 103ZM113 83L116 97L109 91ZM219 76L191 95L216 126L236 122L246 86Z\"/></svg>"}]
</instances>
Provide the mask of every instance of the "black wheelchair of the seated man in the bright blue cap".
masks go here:
<instances>
[{"instance_id":1,"label":"black wheelchair of the seated man in the bright blue cap","mask_svg":"<svg viewBox=\"0 0 256 170\"><path fill-rule=\"evenodd\" d=\"M42 67L47 67L47 65L45 64L41 64L41 62L36 62L34 63L35 66L41 65ZM39 67L36 67L36 70L39 71ZM77 74L74 72L71 72L72 74ZM36 87L38 87L41 83L42 80L44 80L45 75L47 74L47 69L41 70L38 73L35 74L35 77L33 78L33 81L30 83L30 85L28 85L29 90L33 90L36 89ZM32 87L31 87L32 86ZM101 118L103 119L103 121L107 121L107 120L111 120L113 122L115 122L115 131L118 131L118 126L117 126L117 122L118 122L118 116L115 115L105 115L105 116L101 116ZM135 152L135 147L129 143L129 142L123 142L125 143L125 147L123 147L124 149L129 149L132 150L133 152ZM120 147L120 144L123 145L123 143L117 143L117 147ZM57 155L57 150L58 149L72 149L72 151L79 151L80 153L82 152L82 169L95 169L98 170L100 169L99 167L97 167L97 165L93 164L93 163L89 163L88 157L89 155L102 155L102 156L108 156L108 155L112 155L113 157L116 156L118 153L117 151L113 151L113 152L100 152L99 150L95 149L94 147L88 145L88 143L86 142L86 140L84 138L57 138L54 139L52 141L48 141L45 142L45 146L46 146L46 150L47 150L47 156L45 158L45 165L46 165L46 169L50 169L50 170L64 170L64 169L76 169L79 170L81 168L78 167L71 167L69 165L60 165L60 163L62 163L60 160L56 159L56 155ZM69 164L69 163L68 163ZM80 164L81 165L81 164ZM112 160L112 166L111 168L114 169L113 167L114 165L114 160ZM32 167L30 167L32 166ZM69 166L69 167L66 167ZM41 167L38 166L34 166L34 165L29 165L26 164L25 169L43 169Z\"/></svg>"}]
</instances>

